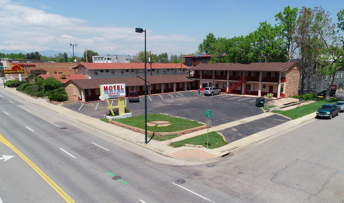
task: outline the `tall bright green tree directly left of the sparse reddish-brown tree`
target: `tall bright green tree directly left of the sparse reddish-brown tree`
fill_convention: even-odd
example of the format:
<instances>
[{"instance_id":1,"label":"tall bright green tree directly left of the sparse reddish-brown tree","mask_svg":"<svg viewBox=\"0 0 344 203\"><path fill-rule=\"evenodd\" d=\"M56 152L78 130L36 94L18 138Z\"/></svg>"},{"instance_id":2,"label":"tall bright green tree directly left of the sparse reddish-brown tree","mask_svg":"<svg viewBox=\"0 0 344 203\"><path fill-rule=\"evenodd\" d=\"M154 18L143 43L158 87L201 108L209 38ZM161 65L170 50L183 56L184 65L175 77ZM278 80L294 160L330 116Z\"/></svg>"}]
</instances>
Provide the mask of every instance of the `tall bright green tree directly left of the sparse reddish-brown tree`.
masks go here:
<instances>
[{"instance_id":1,"label":"tall bright green tree directly left of the sparse reddish-brown tree","mask_svg":"<svg viewBox=\"0 0 344 203\"><path fill-rule=\"evenodd\" d=\"M295 41L295 25L298 11L298 7L291 9L288 5L287 7L284 7L283 13L279 12L275 15L276 21L279 21L281 26L283 40L287 47L288 62L290 62L295 49L298 47L298 44Z\"/></svg>"}]
</instances>

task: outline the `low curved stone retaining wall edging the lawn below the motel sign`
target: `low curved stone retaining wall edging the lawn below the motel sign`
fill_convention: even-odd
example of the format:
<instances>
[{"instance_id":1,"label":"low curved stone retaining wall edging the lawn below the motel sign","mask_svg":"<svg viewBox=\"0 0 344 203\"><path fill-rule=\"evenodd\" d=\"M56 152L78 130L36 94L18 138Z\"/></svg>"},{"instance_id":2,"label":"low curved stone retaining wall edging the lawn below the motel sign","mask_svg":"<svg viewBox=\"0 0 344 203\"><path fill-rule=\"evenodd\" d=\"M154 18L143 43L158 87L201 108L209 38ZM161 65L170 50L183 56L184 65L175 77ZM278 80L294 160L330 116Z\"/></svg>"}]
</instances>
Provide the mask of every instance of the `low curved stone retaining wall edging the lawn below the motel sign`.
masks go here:
<instances>
[{"instance_id":1,"label":"low curved stone retaining wall edging the lawn below the motel sign","mask_svg":"<svg viewBox=\"0 0 344 203\"><path fill-rule=\"evenodd\" d=\"M117 125L117 126L120 126L120 127L123 127L123 128L127 128L131 131L135 131L135 132L138 132L138 133L142 133L144 134L144 129L141 129L141 128L137 128L137 127L133 127L133 126L130 126L130 125L126 125L126 124L123 124L123 123L119 123L117 121L113 121L113 120L109 120L109 123L112 123L114 125ZM211 127L211 126L209 126ZM184 135L184 134L188 134L188 133L192 133L192 132L196 132L196 131L200 131L200 130L203 130L203 129L206 129L207 128L207 125L202 125L202 126L199 126L199 127L195 127L195 128L191 128L191 129L186 129L186 130L183 130L183 131L177 131L177 132L151 132L151 131L147 131L147 135Z\"/></svg>"}]
</instances>

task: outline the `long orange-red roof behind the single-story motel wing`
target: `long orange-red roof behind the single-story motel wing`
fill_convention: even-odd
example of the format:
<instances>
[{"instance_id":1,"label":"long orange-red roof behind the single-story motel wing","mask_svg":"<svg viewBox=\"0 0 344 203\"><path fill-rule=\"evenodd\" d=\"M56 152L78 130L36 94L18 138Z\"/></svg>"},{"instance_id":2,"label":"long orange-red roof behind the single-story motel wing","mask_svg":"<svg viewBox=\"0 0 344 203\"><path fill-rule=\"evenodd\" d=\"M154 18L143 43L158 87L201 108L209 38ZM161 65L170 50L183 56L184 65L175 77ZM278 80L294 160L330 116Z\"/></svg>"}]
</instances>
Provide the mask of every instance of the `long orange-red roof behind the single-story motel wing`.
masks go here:
<instances>
[{"instance_id":1,"label":"long orange-red roof behind the single-story motel wing","mask_svg":"<svg viewBox=\"0 0 344 203\"><path fill-rule=\"evenodd\" d=\"M144 63L88 63L88 69L144 69ZM147 63L147 68L150 68L150 63ZM79 67L86 67L86 63L79 63L78 65L72 67L77 69ZM182 64L183 68L189 68ZM179 64L161 64L161 63L152 63L152 68L181 68Z\"/></svg>"}]
</instances>

